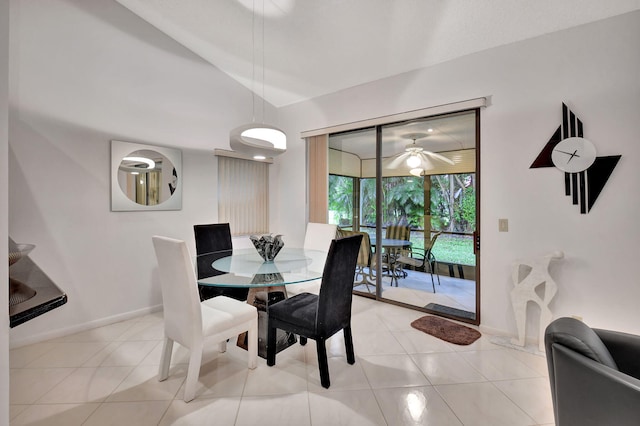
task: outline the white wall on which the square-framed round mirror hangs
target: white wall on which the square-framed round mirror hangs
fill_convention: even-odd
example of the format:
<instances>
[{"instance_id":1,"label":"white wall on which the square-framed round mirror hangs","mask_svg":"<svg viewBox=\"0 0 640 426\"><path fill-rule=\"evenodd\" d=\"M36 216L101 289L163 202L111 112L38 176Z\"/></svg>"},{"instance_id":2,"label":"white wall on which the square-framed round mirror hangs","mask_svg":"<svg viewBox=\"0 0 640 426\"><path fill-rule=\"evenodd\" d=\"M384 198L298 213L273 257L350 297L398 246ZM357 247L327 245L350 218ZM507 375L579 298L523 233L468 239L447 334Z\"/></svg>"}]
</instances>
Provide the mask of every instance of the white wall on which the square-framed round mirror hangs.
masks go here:
<instances>
[{"instance_id":1,"label":"white wall on which the square-framed round mirror hangs","mask_svg":"<svg viewBox=\"0 0 640 426\"><path fill-rule=\"evenodd\" d=\"M229 149L252 104L116 2L13 5L9 234L36 245L32 259L68 294L11 330L17 346L161 304L151 236L195 252L192 226L218 217L213 149ZM110 211L112 139L183 148L181 211Z\"/></svg>"}]
</instances>

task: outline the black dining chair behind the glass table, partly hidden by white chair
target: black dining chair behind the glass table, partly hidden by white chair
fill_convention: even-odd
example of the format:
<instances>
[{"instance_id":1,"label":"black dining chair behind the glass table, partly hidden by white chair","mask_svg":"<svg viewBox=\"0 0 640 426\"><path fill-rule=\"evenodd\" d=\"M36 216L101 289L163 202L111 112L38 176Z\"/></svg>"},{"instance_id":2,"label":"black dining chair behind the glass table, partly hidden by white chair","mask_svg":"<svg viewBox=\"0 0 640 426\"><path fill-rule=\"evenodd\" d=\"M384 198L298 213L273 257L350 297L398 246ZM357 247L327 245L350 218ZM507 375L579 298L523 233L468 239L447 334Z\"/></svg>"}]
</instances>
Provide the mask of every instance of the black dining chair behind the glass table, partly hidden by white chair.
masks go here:
<instances>
[{"instance_id":1,"label":"black dining chair behind the glass table, partly hidden by white chair","mask_svg":"<svg viewBox=\"0 0 640 426\"><path fill-rule=\"evenodd\" d=\"M211 264L225 256L225 252L233 249L231 228L228 223L212 223L208 225L193 225L196 238L197 273L198 279L214 277L224 272L214 269ZM247 300L248 288L214 287L198 284L200 300L211 299L215 296L227 296L236 300Z\"/></svg>"}]
</instances>

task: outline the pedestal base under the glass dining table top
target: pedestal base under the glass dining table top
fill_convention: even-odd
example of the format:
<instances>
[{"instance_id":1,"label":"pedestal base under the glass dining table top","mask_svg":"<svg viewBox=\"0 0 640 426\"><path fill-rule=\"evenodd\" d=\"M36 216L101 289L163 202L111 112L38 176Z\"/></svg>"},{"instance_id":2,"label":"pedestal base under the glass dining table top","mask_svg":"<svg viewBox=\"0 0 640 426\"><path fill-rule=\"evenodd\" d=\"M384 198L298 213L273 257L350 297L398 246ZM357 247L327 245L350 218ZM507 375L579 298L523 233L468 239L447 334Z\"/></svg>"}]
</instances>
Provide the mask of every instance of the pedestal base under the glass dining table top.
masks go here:
<instances>
[{"instance_id":1,"label":"pedestal base under the glass dining table top","mask_svg":"<svg viewBox=\"0 0 640 426\"><path fill-rule=\"evenodd\" d=\"M267 358L267 330L269 316L267 306L287 298L284 286L253 287L247 295L247 303L258 309L258 356ZM288 348L298 341L296 335L283 330L276 333L276 353ZM237 345L247 349L247 333L238 336Z\"/></svg>"}]
</instances>

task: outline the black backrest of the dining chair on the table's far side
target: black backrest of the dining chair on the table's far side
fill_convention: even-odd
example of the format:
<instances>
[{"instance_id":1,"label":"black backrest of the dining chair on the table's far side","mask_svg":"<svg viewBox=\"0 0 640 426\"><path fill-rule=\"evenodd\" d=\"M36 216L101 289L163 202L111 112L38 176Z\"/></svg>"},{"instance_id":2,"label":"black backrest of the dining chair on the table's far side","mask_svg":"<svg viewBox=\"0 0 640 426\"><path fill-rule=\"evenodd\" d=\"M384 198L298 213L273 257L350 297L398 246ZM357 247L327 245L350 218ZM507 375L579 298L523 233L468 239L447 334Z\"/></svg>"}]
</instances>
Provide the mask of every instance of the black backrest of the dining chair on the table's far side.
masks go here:
<instances>
[{"instance_id":1,"label":"black backrest of the dining chair on the table's far side","mask_svg":"<svg viewBox=\"0 0 640 426\"><path fill-rule=\"evenodd\" d=\"M228 223L193 225L196 238L196 266L198 279L214 277L224 272L211 267L211 264L224 257L224 250L232 250L231 228Z\"/></svg>"}]
</instances>

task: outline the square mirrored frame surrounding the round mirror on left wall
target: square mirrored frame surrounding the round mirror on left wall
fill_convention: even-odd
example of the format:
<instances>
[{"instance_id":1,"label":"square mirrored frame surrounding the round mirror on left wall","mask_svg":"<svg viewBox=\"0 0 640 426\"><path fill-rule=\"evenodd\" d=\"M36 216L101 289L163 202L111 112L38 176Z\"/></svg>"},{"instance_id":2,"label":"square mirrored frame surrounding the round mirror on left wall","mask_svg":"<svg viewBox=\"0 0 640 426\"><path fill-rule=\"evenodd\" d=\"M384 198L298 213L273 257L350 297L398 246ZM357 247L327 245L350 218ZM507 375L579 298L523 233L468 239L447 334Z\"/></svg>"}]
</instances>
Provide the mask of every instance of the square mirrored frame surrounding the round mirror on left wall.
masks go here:
<instances>
[{"instance_id":1,"label":"square mirrored frame surrounding the round mirror on left wall","mask_svg":"<svg viewBox=\"0 0 640 426\"><path fill-rule=\"evenodd\" d=\"M153 206L145 206L130 200L118 184L118 168L122 158L134 151L156 151L164 155L176 169L178 181L176 190L165 202ZM164 146L146 145L133 142L111 141L111 211L149 211L149 210L182 210L182 151Z\"/></svg>"}]
</instances>

